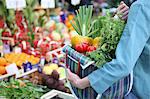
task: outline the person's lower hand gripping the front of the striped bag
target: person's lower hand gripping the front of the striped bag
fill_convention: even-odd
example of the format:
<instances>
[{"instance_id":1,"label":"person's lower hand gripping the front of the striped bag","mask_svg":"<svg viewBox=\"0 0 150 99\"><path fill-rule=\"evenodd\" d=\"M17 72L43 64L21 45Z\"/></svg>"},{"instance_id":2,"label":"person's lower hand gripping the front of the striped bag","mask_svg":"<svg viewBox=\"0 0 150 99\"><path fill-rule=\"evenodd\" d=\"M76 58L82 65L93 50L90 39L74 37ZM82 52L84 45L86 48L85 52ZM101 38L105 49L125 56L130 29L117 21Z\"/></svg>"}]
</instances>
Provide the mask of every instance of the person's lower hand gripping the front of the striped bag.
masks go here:
<instances>
[{"instance_id":1,"label":"person's lower hand gripping the front of the striped bag","mask_svg":"<svg viewBox=\"0 0 150 99\"><path fill-rule=\"evenodd\" d=\"M85 89L86 87L90 86L89 80L87 77L81 79L76 74L72 73L69 69L68 72L68 80L71 82L71 84L79 89Z\"/></svg>"}]
</instances>

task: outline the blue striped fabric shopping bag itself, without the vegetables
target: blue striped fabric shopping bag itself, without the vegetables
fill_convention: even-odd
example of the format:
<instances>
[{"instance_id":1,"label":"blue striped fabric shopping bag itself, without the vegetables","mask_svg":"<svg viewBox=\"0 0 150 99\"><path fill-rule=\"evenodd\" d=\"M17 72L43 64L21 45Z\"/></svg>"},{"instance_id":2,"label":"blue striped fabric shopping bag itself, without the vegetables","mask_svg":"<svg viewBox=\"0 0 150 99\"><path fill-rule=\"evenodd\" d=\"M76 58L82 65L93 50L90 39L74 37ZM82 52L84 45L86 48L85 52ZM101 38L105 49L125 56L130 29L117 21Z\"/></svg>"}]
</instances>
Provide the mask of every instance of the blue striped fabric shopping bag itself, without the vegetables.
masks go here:
<instances>
[{"instance_id":1,"label":"blue striped fabric shopping bag itself, without the vegetables","mask_svg":"<svg viewBox=\"0 0 150 99\"><path fill-rule=\"evenodd\" d=\"M88 74L98 69L94 62L85 55L78 53L70 46L65 46L63 52L66 53L66 67L80 78L86 77ZM115 82L103 94L98 94L92 87L86 89L78 89L71 85L72 93L78 99L123 99L132 89L133 73Z\"/></svg>"}]
</instances>

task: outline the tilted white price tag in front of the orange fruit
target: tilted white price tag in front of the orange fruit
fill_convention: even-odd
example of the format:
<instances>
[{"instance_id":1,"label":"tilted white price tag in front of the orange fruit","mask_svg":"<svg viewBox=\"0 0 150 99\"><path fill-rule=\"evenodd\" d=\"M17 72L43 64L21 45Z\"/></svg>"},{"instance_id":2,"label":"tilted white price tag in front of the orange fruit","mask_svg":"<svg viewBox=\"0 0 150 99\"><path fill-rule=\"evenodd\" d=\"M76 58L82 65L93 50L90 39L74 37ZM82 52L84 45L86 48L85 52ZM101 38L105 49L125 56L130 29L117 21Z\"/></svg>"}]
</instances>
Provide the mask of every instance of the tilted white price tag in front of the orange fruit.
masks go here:
<instances>
[{"instance_id":1,"label":"tilted white price tag in front of the orange fruit","mask_svg":"<svg viewBox=\"0 0 150 99\"><path fill-rule=\"evenodd\" d=\"M15 63L6 66L7 74L19 74L19 70Z\"/></svg>"}]
</instances>

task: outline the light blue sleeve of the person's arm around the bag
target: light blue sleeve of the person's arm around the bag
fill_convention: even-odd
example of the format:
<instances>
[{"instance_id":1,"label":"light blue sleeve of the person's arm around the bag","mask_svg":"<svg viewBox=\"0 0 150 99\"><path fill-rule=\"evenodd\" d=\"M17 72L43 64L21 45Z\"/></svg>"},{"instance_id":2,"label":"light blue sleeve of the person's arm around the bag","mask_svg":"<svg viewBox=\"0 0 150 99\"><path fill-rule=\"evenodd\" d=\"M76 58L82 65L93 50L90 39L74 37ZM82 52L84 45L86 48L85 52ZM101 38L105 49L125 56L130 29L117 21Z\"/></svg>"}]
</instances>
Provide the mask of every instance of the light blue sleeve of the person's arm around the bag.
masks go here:
<instances>
[{"instance_id":1,"label":"light blue sleeve of the person's arm around the bag","mask_svg":"<svg viewBox=\"0 0 150 99\"><path fill-rule=\"evenodd\" d=\"M116 49L116 59L88 75L90 85L97 93L102 94L133 70L150 37L149 11L140 3L131 6L127 25Z\"/></svg>"}]
</instances>

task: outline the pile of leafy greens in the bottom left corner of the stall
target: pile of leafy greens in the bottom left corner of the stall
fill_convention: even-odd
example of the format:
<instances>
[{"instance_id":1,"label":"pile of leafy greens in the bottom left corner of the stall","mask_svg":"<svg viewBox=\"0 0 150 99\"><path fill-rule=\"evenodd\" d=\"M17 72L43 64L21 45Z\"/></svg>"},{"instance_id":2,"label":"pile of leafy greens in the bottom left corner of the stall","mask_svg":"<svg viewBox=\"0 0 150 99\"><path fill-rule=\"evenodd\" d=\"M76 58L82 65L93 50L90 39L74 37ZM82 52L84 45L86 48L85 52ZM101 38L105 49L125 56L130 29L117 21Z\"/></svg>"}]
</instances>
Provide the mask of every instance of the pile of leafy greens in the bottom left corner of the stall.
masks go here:
<instances>
[{"instance_id":1,"label":"pile of leafy greens in the bottom left corner of the stall","mask_svg":"<svg viewBox=\"0 0 150 99\"><path fill-rule=\"evenodd\" d=\"M47 88L33 85L29 81L21 81L11 78L9 82L0 82L0 97L6 99L39 99Z\"/></svg>"}]
</instances>

